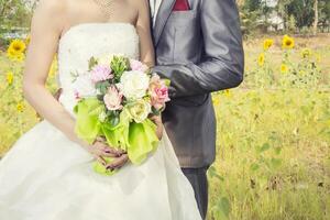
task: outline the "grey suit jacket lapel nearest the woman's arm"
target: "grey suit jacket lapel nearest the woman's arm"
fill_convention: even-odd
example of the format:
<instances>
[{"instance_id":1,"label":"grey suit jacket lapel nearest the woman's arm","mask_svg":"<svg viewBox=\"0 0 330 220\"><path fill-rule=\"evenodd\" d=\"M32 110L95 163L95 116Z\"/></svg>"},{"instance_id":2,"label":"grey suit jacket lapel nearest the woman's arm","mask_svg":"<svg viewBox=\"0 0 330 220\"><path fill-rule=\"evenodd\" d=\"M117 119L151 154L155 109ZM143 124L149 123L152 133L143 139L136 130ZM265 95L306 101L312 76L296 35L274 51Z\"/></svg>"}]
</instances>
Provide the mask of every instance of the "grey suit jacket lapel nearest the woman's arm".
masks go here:
<instances>
[{"instance_id":1,"label":"grey suit jacket lapel nearest the woman's arm","mask_svg":"<svg viewBox=\"0 0 330 220\"><path fill-rule=\"evenodd\" d=\"M166 22L172 13L172 9L174 7L176 0L163 0L160 10L157 12L155 25L154 25L154 40L155 45L158 44L158 41L161 38L162 32L166 25Z\"/></svg>"}]
</instances>

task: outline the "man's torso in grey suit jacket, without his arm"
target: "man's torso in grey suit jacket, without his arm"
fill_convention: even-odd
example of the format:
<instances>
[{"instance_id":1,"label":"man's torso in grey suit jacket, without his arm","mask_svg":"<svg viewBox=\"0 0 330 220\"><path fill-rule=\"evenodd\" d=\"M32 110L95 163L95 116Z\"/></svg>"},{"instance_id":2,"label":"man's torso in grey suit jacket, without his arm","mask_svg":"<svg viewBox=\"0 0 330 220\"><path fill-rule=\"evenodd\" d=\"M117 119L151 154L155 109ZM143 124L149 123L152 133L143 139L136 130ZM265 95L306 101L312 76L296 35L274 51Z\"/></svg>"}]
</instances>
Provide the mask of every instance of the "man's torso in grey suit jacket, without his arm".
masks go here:
<instances>
[{"instance_id":1,"label":"man's torso in grey suit jacket, without his arm","mask_svg":"<svg viewBox=\"0 0 330 220\"><path fill-rule=\"evenodd\" d=\"M157 65L200 63L202 1L188 0L189 10L179 11L173 10L175 0L150 1L156 14L153 36ZM202 167L215 161L216 118L210 94L172 99L163 121L183 167Z\"/></svg>"}]
</instances>

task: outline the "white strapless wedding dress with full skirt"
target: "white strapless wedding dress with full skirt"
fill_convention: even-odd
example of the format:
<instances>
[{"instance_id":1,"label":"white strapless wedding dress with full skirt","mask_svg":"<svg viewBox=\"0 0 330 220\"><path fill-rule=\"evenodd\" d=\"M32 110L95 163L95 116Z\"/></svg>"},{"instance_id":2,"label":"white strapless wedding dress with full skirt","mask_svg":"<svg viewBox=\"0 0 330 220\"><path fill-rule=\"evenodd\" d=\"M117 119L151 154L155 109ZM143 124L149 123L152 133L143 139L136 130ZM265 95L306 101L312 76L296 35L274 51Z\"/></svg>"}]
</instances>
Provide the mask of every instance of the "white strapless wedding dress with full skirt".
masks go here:
<instances>
[{"instance_id":1,"label":"white strapless wedding dress with full skirt","mask_svg":"<svg viewBox=\"0 0 330 220\"><path fill-rule=\"evenodd\" d=\"M59 41L62 105L73 114L72 73L91 56L139 58L139 35L129 23L84 23ZM37 96L37 95L36 95ZM141 166L113 176L92 170L92 156L42 121L0 161L1 220L200 220L194 190L164 131L157 151Z\"/></svg>"}]
</instances>

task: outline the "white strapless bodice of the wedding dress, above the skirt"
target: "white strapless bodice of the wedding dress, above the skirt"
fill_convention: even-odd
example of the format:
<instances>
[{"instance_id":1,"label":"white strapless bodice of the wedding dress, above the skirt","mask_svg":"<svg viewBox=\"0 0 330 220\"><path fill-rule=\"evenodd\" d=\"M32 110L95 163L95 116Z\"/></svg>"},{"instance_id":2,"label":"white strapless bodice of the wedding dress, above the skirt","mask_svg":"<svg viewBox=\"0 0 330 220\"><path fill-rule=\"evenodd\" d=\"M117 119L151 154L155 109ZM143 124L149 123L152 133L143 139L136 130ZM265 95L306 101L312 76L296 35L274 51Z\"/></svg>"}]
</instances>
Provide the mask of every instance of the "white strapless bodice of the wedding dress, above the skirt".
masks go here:
<instances>
[{"instance_id":1,"label":"white strapless bodice of the wedding dress, above the skirt","mask_svg":"<svg viewBox=\"0 0 330 220\"><path fill-rule=\"evenodd\" d=\"M88 70L90 57L121 54L139 59L139 35L130 23L82 23L72 26L58 44L59 102L73 114L76 105L74 75Z\"/></svg>"}]
</instances>

